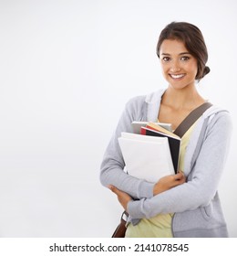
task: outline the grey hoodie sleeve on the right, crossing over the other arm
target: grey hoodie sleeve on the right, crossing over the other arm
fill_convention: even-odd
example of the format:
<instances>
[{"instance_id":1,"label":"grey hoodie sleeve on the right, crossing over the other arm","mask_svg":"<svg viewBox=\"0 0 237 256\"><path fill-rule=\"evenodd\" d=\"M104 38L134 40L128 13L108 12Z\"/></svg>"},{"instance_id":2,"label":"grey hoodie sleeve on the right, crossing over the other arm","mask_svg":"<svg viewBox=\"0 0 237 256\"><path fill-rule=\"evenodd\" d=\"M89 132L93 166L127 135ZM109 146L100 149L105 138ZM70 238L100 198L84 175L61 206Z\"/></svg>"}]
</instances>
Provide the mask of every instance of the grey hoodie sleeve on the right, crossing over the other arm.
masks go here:
<instances>
[{"instance_id":1,"label":"grey hoodie sleeve on the right, crossing over the other arm","mask_svg":"<svg viewBox=\"0 0 237 256\"><path fill-rule=\"evenodd\" d=\"M129 215L134 219L149 219L160 213L182 212L208 205L217 191L222 176L231 132L229 114L216 114L203 138L200 153L188 176L188 182L155 197L129 201Z\"/></svg>"}]
</instances>

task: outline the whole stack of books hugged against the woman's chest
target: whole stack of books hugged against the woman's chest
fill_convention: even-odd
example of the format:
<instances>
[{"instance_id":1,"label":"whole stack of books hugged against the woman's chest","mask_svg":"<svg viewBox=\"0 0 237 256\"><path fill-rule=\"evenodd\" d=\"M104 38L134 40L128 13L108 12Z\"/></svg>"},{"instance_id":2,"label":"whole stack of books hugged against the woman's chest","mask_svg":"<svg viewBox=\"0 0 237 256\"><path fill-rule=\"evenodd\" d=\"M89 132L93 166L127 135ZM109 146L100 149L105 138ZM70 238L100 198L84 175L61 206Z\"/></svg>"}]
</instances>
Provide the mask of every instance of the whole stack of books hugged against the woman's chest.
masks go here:
<instances>
[{"instance_id":1,"label":"whole stack of books hugged against the woman's chest","mask_svg":"<svg viewBox=\"0 0 237 256\"><path fill-rule=\"evenodd\" d=\"M127 172L149 182L175 174L178 170L180 137L170 123L131 123L133 133L118 138Z\"/></svg>"}]
</instances>

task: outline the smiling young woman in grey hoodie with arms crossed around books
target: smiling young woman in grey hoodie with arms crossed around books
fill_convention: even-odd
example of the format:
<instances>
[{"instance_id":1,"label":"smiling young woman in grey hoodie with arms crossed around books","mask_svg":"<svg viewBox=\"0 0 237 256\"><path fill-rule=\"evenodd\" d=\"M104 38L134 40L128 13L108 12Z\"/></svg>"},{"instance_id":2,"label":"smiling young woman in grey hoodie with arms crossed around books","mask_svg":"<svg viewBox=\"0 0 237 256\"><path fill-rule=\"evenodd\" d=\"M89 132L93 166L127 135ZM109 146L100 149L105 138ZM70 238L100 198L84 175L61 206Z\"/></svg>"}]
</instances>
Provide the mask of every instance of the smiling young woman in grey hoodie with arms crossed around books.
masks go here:
<instances>
[{"instance_id":1,"label":"smiling young woman in grey hoodie with arms crossed around books","mask_svg":"<svg viewBox=\"0 0 237 256\"><path fill-rule=\"evenodd\" d=\"M156 184L126 174L118 137L132 121L171 123L172 129L206 100L196 89L210 69L201 31L172 22L161 33L157 55L166 90L131 99L101 164L101 183L129 213L126 237L228 237L218 185L230 144L230 114L211 106L181 138L180 172Z\"/></svg>"}]
</instances>

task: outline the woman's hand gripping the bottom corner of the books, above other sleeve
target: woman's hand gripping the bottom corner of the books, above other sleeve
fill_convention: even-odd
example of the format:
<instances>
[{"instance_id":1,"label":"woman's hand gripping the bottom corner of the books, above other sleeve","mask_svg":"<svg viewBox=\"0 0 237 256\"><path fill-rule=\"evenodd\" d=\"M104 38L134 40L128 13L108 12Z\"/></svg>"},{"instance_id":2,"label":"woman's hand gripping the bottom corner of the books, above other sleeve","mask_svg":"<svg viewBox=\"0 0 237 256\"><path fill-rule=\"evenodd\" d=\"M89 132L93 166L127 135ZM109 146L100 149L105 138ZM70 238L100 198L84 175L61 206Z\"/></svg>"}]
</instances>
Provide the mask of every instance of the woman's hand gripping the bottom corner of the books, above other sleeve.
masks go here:
<instances>
[{"instance_id":1,"label":"woman's hand gripping the bottom corner of the books, above other sleeve","mask_svg":"<svg viewBox=\"0 0 237 256\"><path fill-rule=\"evenodd\" d=\"M166 190L169 190L172 187L179 186L186 181L186 177L182 172L179 172L176 175L163 176L155 184L153 188L153 196L160 194Z\"/></svg>"}]
</instances>

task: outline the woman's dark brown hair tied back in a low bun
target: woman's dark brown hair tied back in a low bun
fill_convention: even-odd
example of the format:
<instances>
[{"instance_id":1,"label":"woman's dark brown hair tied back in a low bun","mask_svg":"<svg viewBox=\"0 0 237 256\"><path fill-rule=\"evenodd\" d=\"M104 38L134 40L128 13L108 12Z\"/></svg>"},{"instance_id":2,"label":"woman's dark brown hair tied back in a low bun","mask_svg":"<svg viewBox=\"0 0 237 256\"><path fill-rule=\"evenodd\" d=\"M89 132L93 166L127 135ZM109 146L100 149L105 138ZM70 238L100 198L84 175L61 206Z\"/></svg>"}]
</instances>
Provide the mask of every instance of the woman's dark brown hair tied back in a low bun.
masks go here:
<instances>
[{"instance_id":1,"label":"woman's dark brown hair tied back in a low bun","mask_svg":"<svg viewBox=\"0 0 237 256\"><path fill-rule=\"evenodd\" d=\"M201 30L187 22L171 22L160 33L157 55L160 58L160 46L165 39L176 39L184 43L191 55L198 61L196 80L201 80L210 72L206 66L208 51Z\"/></svg>"}]
</instances>

